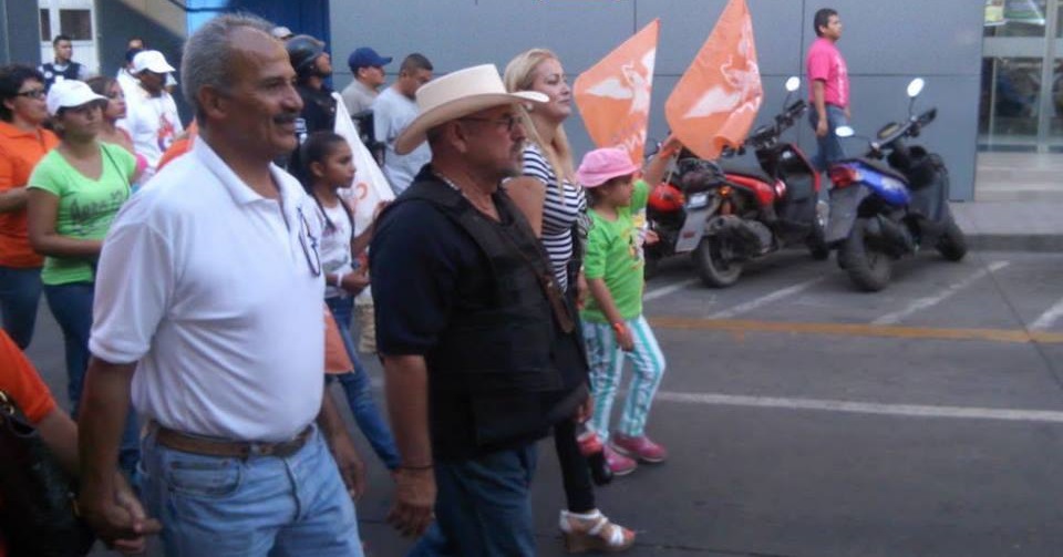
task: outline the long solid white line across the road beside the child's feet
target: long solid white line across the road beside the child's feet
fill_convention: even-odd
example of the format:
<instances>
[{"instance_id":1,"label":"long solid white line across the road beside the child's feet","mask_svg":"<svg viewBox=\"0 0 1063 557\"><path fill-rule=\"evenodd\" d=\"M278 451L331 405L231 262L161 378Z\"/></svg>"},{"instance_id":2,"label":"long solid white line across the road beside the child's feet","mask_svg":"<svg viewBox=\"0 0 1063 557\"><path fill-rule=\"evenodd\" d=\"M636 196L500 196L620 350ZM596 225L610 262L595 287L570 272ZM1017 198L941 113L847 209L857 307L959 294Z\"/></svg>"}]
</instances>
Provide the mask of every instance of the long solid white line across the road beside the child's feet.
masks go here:
<instances>
[{"instance_id":1,"label":"long solid white line across the road beside the child's feet","mask_svg":"<svg viewBox=\"0 0 1063 557\"><path fill-rule=\"evenodd\" d=\"M1063 423L1063 412L1052 410L987 409L972 406L928 406L879 404L782 396L741 396L718 393L677 393L658 391L657 400L716 406L752 406L781 410L813 410L852 414L878 414L907 417L948 417L958 420L1000 420L1010 422Z\"/></svg>"}]
</instances>

